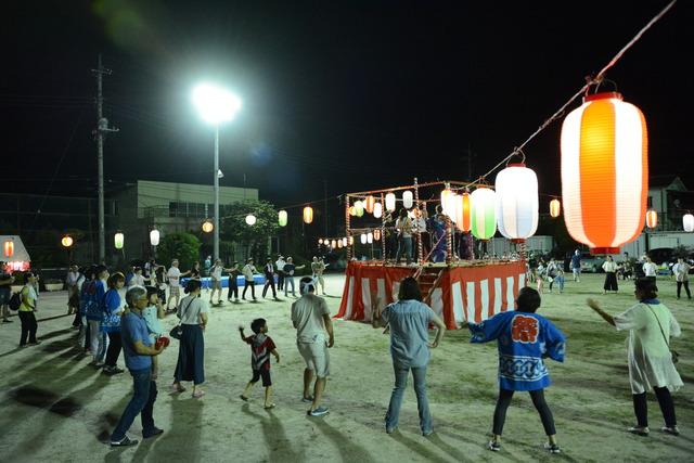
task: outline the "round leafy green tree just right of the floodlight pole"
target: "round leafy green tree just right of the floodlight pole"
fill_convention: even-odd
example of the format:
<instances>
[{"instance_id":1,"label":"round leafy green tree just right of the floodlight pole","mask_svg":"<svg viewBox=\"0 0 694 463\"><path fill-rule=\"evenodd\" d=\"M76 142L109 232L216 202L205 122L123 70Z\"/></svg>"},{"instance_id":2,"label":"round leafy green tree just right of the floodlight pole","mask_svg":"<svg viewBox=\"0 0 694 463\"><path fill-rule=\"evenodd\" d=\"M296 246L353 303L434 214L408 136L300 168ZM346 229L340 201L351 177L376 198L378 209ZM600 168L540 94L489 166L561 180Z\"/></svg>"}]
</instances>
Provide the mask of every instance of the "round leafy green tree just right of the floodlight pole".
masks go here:
<instances>
[{"instance_id":1,"label":"round leafy green tree just right of the floodlight pole","mask_svg":"<svg viewBox=\"0 0 694 463\"><path fill-rule=\"evenodd\" d=\"M264 262L267 256L268 240L277 234L278 211L274 205L267 201L245 201L224 206L228 215L221 227L221 237L246 247L246 258L253 257L257 262ZM256 223L246 223L246 216L253 214Z\"/></svg>"}]
</instances>

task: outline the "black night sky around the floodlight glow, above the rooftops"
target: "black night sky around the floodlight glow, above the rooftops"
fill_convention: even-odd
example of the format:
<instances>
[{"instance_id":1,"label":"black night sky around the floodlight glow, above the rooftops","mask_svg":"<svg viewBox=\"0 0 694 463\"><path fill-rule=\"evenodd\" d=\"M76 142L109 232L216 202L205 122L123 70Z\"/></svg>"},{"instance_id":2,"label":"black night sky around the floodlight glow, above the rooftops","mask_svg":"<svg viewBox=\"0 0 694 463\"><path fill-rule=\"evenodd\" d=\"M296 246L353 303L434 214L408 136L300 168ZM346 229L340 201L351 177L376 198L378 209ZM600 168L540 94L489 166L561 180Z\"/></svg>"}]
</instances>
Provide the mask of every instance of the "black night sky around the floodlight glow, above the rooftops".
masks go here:
<instances>
[{"instance_id":1,"label":"black night sky around the floodlight glow, above the rooftops","mask_svg":"<svg viewBox=\"0 0 694 463\"><path fill-rule=\"evenodd\" d=\"M0 80L8 192L95 195L103 52L107 191L210 183L200 80L244 102L222 127L222 185L288 205L467 179L520 144L668 1L26 1L5 7ZM693 8L681 0L607 73L644 113L652 173L694 189ZM605 82L604 89L614 85ZM575 104L571 108L578 105ZM560 192L555 123L525 150ZM493 181L491 176L490 181Z\"/></svg>"}]
</instances>

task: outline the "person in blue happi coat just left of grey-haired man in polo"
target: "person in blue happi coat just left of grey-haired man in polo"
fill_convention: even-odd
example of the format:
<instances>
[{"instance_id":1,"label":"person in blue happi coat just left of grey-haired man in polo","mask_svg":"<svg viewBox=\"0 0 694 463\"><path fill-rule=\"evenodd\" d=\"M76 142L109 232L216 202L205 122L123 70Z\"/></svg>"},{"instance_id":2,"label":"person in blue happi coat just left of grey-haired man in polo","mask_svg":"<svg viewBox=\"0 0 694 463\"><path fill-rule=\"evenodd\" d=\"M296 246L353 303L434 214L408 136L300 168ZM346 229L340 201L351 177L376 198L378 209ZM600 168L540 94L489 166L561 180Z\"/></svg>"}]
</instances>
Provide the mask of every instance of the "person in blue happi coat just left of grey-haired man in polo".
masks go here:
<instances>
[{"instance_id":1,"label":"person in blue happi coat just left of grey-haired man in polo","mask_svg":"<svg viewBox=\"0 0 694 463\"><path fill-rule=\"evenodd\" d=\"M140 273L142 269L140 269ZM138 269L136 269L136 276L138 275ZM116 365L118 357L120 356L120 349L123 343L120 338L120 318L125 308L125 300L121 300L119 291L126 283L126 278L123 273L116 272L108 276L106 284L108 291L104 295L103 299L103 312L104 317L101 323L101 329L108 336L108 348L106 349L106 360L104 362L103 372L107 375L114 375L123 373L124 370Z\"/></svg>"}]
</instances>

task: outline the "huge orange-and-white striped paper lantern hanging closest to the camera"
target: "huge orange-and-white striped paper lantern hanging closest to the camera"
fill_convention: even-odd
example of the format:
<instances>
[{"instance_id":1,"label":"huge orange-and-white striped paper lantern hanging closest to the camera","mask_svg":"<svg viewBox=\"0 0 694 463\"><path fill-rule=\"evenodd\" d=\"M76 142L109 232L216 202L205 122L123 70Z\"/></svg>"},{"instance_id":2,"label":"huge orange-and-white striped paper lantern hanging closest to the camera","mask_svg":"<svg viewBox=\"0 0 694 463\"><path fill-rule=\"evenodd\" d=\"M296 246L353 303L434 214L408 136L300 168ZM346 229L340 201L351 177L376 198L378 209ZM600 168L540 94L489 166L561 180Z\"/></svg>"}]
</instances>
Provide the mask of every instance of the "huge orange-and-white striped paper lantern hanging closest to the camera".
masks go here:
<instances>
[{"instance_id":1,"label":"huge orange-and-white striped paper lantern hanging closest to the camera","mask_svg":"<svg viewBox=\"0 0 694 463\"><path fill-rule=\"evenodd\" d=\"M562 126L562 197L571 237L617 254L643 229L648 194L645 118L616 92L583 99Z\"/></svg>"}]
</instances>

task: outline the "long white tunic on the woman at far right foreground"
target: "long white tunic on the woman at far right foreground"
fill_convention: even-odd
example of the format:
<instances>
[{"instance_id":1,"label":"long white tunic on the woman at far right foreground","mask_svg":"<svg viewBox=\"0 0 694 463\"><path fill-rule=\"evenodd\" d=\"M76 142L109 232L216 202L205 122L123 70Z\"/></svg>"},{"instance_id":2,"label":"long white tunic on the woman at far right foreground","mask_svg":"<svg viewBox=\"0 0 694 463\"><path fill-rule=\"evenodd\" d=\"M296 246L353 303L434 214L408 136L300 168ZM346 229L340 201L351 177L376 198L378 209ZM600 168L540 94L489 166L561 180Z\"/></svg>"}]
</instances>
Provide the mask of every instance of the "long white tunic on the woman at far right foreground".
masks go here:
<instances>
[{"instance_id":1,"label":"long white tunic on the woman at far right foreground","mask_svg":"<svg viewBox=\"0 0 694 463\"><path fill-rule=\"evenodd\" d=\"M679 323L663 304L639 303L614 318L617 330L629 330L627 358L632 394L643 394L653 387L677 390L683 386L656 316L668 343L670 336L681 335Z\"/></svg>"}]
</instances>

